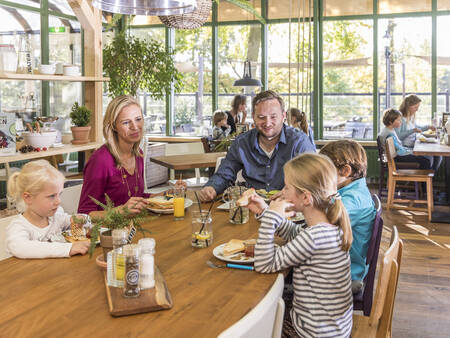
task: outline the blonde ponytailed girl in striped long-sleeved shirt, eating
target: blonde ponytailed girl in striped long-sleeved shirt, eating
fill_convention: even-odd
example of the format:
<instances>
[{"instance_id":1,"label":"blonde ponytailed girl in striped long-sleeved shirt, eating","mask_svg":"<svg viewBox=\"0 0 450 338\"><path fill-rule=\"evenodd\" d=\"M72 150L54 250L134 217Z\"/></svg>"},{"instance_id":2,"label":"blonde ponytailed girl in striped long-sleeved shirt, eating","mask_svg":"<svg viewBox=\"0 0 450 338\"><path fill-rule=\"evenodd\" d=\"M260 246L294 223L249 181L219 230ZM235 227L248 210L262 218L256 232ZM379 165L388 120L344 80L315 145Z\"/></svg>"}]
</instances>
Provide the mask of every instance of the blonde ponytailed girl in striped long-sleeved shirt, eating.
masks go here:
<instances>
[{"instance_id":1,"label":"blonde ponytailed girl in striped long-sleeved shirt, eating","mask_svg":"<svg viewBox=\"0 0 450 338\"><path fill-rule=\"evenodd\" d=\"M282 197L269 207L252 196L249 208L261 221L255 247L255 269L263 273L293 267L292 326L300 337L349 337L353 298L349 249L350 221L329 158L302 154L284 166ZM306 227L286 219L301 211ZM286 244L274 246L274 235ZM290 304L287 304L289 307ZM283 330L289 330L285 321Z\"/></svg>"}]
</instances>

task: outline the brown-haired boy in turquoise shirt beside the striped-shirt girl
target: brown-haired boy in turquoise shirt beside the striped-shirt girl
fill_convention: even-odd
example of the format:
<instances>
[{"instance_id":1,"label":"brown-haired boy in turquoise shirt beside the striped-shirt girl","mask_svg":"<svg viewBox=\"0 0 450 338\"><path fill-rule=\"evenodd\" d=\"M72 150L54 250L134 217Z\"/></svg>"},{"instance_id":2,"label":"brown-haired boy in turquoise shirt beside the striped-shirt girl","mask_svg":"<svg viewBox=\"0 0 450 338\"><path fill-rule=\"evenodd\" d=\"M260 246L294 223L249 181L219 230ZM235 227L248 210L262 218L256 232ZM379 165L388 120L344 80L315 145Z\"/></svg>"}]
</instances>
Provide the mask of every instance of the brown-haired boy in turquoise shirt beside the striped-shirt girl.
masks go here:
<instances>
[{"instance_id":1,"label":"brown-haired boy in turquoise shirt beside the striped-shirt girl","mask_svg":"<svg viewBox=\"0 0 450 338\"><path fill-rule=\"evenodd\" d=\"M339 140L327 143L320 149L320 154L328 156L337 169L338 193L347 209L353 233L350 248L352 292L358 293L369 271L366 257L376 216L366 182L366 151L358 142Z\"/></svg>"}]
</instances>

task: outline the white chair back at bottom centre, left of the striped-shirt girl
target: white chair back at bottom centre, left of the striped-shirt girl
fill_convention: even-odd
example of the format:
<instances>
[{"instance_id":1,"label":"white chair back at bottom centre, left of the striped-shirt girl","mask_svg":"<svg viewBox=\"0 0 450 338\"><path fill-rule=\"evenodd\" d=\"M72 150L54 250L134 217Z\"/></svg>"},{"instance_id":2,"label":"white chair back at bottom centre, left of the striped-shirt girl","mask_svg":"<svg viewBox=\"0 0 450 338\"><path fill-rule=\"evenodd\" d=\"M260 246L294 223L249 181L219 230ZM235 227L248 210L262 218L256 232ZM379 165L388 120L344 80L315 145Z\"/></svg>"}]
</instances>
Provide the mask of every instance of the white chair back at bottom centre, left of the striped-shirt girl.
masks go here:
<instances>
[{"instance_id":1,"label":"white chair back at bottom centre, left of the striped-shirt girl","mask_svg":"<svg viewBox=\"0 0 450 338\"><path fill-rule=\"evenodd\" d=\"M223 331L219 338L278 338L281 336L284 301L281 298L284 277L278 274L272 288L256 307Z\"/></svg>"}]
</instances>

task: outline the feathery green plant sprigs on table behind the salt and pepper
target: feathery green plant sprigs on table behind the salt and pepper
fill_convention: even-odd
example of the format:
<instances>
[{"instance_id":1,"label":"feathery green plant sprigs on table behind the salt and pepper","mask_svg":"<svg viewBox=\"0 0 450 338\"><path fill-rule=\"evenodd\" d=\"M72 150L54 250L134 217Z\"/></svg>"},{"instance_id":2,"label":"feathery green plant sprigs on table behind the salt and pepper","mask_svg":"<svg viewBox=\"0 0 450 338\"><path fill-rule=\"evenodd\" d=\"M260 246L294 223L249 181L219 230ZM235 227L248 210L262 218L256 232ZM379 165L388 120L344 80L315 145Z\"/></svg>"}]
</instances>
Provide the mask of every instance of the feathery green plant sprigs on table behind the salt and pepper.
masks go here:
<instances>
[{"instance_id":1,"label":"feathery green plant sprigs on table behind the salt and pepper","mask_svg":"<svg viewBox=\"0 0 450 338\"><path fill-rule=\"evenodd\" d=\"M101 206L105 211L102 217L92 217L92 229L91 229L91 245L89 247L89 256L92 257L98 238L100 238L100 246L103 248L103 258L106 262L106 254L112 249L112 230L114 229L127 229L130 232L128 236L131 242L136 231L142 233L145 237L146 233L151 233L149 230L142 227L142 223L155 219L158 216L149 216L146 209L135 214L131 213L125 206L123 209L118 210L114 207L114 203L109 196L105 194L106 204L98 201L97 199L89 196L95 204ZM109 230L101 232L101 228L107 228Z\"/></svg>"}]
</instances>

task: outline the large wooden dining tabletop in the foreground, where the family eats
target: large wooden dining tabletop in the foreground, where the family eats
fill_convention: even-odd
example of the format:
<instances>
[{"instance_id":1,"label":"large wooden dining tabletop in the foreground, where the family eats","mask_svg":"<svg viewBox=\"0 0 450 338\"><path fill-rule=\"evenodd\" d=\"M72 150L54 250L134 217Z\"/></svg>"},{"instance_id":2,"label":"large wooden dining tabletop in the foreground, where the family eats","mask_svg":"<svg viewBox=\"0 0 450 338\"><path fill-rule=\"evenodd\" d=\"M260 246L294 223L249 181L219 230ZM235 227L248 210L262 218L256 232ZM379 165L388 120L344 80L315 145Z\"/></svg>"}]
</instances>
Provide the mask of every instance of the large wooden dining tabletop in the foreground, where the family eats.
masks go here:
<instances>
[{"instance_id":1,"label":"large wooden dining tabletop in the foreground, where the family eats","mask_svg":"<svg viewBox=\"0 0 450 338\"><path fill-rule=\"evenodd\" d=\"M228 222L228 212L213 207L213 243L191 246L191 211L184 220L161 215L144 224L156 240L155 263L171 293L169 310L112 317L103 272L89 255L58 259L0 261L0 336L2 337L216 337L253 309L277 274L211 268L220 262L213 249L233 238L256 238L258 222ZM206 207L206 205L205 205ZM139 237L139 234L136 235Z\"/></svg>"}]
</instances>

